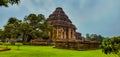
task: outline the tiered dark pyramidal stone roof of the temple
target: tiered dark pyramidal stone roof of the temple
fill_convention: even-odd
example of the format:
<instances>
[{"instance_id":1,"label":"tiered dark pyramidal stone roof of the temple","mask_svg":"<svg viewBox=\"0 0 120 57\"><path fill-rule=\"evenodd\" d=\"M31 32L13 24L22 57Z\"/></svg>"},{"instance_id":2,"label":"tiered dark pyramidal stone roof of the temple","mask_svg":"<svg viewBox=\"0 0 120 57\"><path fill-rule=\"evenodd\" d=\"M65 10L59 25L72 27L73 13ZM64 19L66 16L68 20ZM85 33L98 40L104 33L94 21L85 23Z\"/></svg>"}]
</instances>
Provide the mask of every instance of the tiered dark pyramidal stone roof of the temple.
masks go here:
<instances>
[{"instance_id":1,"label":"tiered dark pyramidal stone roof of the temple","mask_svg":"<svg viewBox=\"0 0 120 57\"><path fill-rule=\"evenodd\" d=\"M55 9L55 11L49 16L48 21L54 26L60 25L76 29L61 7Z\"/></svg>"}]
</instances>

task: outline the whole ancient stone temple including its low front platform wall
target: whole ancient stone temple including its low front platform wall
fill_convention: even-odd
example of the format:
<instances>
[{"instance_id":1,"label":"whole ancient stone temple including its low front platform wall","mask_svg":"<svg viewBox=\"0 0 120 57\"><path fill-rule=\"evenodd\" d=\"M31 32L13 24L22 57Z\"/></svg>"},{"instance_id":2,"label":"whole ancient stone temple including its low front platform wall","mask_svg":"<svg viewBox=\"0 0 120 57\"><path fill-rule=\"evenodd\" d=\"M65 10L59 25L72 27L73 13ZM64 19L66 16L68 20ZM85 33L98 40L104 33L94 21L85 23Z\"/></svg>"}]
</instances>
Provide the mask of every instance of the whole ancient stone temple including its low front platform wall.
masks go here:
<instances>
[{"instance_id":1,"label":"whole ancient stone temple including its low front platform wall","mask_svg":"<svg viewBox=\"0 0 120 57\"><path fill-rule=\"evenodd\" d=\"M55 11L50 14L48 22L54 26L56 31L56 33L49 33L53 41L55 40L56 48L75 50L99 48L100 43L95 41L86 41L81 36L81 33L76 32L75 25L72 24L71 20L61 7L56 8Z\"/></svg>"}]
</instances>

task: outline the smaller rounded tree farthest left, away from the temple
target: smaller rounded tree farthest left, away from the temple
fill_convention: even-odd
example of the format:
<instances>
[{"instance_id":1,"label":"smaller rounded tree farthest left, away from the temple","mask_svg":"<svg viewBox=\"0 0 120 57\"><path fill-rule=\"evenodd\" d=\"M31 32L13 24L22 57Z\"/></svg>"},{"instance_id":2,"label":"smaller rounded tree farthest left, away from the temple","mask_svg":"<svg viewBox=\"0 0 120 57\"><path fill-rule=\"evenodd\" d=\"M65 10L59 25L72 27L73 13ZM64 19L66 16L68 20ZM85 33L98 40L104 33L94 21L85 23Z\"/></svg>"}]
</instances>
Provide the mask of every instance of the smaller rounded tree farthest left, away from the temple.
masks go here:
<instances>
[{"instance_id":1,"label":"smaller rounded tree farthest left, away from the temple","mask_svg":"<svg viewBox=\"0 0 120 57\"><path fill-rule=\"evenodd\" d=\"M4 35L6 38L17 38L19 36L18 27L21 23L21 20L11 17L9 18L7 24L4 26Z\"/></svg>"}]
</instances>

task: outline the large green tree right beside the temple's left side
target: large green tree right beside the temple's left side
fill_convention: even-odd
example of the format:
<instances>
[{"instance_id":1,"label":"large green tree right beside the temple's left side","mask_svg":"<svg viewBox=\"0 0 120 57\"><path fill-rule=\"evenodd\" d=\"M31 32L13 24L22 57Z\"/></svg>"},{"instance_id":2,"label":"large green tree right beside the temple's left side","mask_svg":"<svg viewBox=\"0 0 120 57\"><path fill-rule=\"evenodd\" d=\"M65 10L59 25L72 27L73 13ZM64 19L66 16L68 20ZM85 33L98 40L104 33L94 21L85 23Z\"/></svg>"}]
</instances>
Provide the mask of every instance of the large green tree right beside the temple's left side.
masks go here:
<instances>
[{"instance_id":1,"label":"large green tree right beside the temple's left side","mask_svg":"<svg viewBox=\"0 0 120 57\"><path fill-rule=\"evenodd\" d=\"M24 21L31 27L29 32L32 34L29 34L29 36L32 36L32 38L50 38L49 32L53 31L53 26L48 23L44 15L29 14L25 16Z\"/></svg>"}]
</instances>

